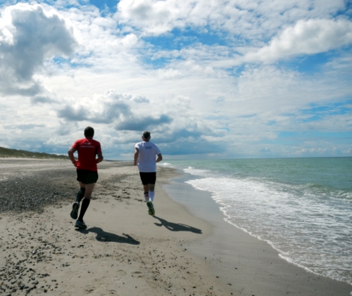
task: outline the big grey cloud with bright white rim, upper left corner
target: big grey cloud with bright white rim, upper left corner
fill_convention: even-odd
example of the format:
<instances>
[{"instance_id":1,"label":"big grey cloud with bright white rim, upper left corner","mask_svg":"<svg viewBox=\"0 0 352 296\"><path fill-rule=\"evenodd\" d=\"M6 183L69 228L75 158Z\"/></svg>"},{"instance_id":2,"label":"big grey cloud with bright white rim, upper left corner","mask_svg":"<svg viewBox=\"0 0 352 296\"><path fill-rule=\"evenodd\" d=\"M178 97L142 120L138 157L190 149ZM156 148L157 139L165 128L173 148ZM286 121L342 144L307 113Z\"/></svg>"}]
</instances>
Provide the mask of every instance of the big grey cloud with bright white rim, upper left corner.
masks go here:
<instances>
[{"instance_id":1,"label":"big grey cloud with bright white rim, upper left corner","mask_svg":"<svg viewBox=\"0 0 352 296\"><path fill-rule=\"evenodd\" d=\"M0 19L0 91L34 96L44 91L33 76L44 61L68 58L77 46L70 22L40 5L8 6Z\"/></svg>"}]
</instances>

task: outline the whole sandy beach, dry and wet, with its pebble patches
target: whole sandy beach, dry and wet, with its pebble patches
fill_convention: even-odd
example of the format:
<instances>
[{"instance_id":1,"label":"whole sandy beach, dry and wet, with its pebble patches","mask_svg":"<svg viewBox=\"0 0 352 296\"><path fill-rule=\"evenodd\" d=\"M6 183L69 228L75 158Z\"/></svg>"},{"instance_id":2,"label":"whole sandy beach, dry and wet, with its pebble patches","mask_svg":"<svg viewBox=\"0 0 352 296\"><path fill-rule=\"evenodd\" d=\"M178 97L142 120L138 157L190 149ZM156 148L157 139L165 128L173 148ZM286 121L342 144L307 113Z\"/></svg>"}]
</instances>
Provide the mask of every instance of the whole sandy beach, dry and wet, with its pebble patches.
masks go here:
<instances>
[{"instance_id":1,"label":"whole sandy beach, dry and wet, with its pebble patches","mask_svg":"<svg viewBox=\"0 0 352 296\"><path fill-rule=\"evenodd\" d=\"M88 228L77 230L70 161L0 159L0 166L1 203L15 200L0 207L1 295L348 296L352 290L285 262L227 224L203 191L170 181L175 170L158 167L151 217L137 167L102 162L84 217Z\"/></svg>"}]
</instances>

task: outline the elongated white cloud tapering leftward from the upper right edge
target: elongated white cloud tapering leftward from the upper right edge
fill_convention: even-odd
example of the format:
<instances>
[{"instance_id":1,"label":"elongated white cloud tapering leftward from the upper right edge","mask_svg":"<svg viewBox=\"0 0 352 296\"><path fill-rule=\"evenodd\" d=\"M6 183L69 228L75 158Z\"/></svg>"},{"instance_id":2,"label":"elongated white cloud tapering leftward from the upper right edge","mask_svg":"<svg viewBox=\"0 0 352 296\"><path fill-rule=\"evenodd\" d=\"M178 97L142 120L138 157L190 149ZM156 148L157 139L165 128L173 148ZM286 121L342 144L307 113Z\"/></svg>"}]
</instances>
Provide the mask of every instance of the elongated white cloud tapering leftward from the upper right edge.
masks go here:
<instances>
[{"instance_id":1,"label":"elongated white cloud tapering leftward from the upper right edge","mask_svg":"<svg viewBox=\"0 0 352 296\"><path fill-rule=\"evenodd\" d=\"M246 62L272 63L301 54L322 53L352 44L352 22L348 20L298 20L256 52L244 56Z\"/></svg>"}]
</instances>

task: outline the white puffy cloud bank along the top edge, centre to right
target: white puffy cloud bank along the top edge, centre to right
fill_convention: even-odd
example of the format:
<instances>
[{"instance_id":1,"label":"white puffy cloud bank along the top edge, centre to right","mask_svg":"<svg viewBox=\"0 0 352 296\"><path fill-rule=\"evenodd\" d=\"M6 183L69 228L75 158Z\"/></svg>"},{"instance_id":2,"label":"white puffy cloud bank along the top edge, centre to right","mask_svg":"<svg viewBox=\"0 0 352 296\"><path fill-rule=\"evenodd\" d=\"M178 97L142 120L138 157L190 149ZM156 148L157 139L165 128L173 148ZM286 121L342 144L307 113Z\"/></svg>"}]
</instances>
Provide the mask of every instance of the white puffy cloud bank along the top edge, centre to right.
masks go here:
<instances>
[{"instance_id":1,"label":"white puffy cloud bank along the top edge, centre to right","mask_svg":"<svg viewBox=\"0 0 352 296\"><path fill-rule=\"evenodd\" d=\"M120 23L146 35L192 27L199 32L229 32L232 37L254 41L271 37L282 23L329 18L343 8L343 0L121 0L117 16Z\"/></svg>"}]
</instances>

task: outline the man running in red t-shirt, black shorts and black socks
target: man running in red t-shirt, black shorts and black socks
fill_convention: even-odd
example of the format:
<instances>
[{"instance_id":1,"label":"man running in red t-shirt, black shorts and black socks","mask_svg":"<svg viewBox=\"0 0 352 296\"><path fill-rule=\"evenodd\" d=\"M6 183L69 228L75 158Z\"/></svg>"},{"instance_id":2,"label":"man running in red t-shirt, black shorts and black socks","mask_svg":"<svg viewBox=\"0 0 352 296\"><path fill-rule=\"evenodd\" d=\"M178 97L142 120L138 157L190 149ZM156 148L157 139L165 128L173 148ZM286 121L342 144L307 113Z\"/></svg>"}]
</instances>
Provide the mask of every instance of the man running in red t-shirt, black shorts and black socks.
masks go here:
<instances>
[{"instance_id":1,"label":"man running in red t-shirt, black shorts and black socks","mask_svg":"<svg viewBox=\"0 0 352 296\"><path fill-rule=\"evenodd\" d=\"M80 216L75 224L75 227L80 229L87 228L86 224L84 224L83 216L88 209L94 185L98 181L98 167L96 164L103 161L100 143L93 140L94 129L86 127L84 129L84 136L84 139L75 141L70 150L68 150L68 157L70 157L73 165L77 167L77 181L80 182L80 191L77 193L76 201L73 203L70 213L72 219L77 219L80 201L84 198ZM75 151L78 153L78 160L75 160L73 155Z\"/></svg>"}]
</instances>

